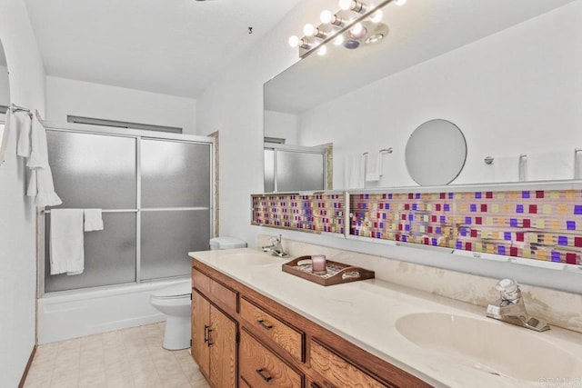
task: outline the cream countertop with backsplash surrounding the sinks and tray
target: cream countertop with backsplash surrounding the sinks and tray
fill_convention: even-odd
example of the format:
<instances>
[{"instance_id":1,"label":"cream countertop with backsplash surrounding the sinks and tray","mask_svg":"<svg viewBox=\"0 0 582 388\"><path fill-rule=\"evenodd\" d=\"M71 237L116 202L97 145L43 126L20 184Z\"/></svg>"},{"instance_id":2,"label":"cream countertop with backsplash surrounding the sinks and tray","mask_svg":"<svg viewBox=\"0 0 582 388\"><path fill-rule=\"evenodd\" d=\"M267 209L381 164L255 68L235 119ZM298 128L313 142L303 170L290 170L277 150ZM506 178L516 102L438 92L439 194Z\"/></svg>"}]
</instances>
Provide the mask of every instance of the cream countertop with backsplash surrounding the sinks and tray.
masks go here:
<instances>
[{"instance_id":1,"label":"cream countertop with backsplash surrounding the sinks and tray","mask_svg":"<svg viewBox=\"0 0 582 388\"><path fill-rule=\"evenodd\" d=\"M268 239L269 236L260 235L258 244L266 244ZM274 257L273 264L258 259L251 263L250 255L263 257L266 254L249 248L197 252L190 256L426 383L459 387L538 386L539 381L483 373L472 366L451 362L445 356L408 342L396 331L397 320L407 314L445 313L506 325L509 333L523 337L523 333L529 332L527 329L485 317L484 306L498 296L494 291L497 280L285 239L284 244L292 256L326 254L329 260L374 270L376 279L323 287L283 273L281 264L286 259ZM581 317L574 313L582 311L580 295L526 285L522 285L522 291L528 312L554 325L549 332L527 334L567 350L581 360L582 365L582 335L556 327L563 323L581 331ZM551 310L546 310L549 306ZM549 316L542 317L542 312ZM564 320L561 315L567 316L566 322L561 322ZM539 376L540 379L552 377L556 376Z\"/></svg>"}]
</instances>

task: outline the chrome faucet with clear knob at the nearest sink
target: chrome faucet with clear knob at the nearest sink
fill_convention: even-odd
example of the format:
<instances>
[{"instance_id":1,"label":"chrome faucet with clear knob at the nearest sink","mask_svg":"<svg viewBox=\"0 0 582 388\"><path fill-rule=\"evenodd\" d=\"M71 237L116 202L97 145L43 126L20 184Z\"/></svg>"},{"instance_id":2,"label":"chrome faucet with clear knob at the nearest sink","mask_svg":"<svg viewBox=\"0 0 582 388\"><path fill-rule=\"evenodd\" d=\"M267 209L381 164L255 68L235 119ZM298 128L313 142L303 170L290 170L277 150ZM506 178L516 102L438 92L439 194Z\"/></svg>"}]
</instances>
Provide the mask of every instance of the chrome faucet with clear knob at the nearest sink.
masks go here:
<instances>
[{"instance_id":1,"label":"chrome faucet with clear knob at the nearest sink","mask_svg":"<svg viewBox=\"0 0 582 388\"><path fill-rule=\"evenodd\" d=\"M521 290L515 280L503 279L495 286L501 297L487 306L487 316L499 321L517 324L537 332L549 330L549 325L529 316L526 304L521 296Z\"/></svg>"}]
</instances>

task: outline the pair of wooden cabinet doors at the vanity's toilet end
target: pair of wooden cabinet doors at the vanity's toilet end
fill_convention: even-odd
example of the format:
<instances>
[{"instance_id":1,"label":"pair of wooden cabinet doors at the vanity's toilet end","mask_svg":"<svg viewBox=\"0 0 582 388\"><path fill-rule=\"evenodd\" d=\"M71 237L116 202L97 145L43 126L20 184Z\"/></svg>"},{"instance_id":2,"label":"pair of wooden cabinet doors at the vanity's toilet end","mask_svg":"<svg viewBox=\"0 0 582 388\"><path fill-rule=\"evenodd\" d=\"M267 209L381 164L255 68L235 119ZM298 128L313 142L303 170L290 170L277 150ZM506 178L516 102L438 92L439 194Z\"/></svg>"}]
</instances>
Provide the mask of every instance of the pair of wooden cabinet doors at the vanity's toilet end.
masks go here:
<instances>
[{"instance_id":1,"label":"pair of wooden cabinet doors at the vanity's toilet end","mask_svg":"<svg viewBox=\"0 0 582 388\"><path fill-rule=\"evenodd\" d=\"M192 356L215 387L236 386L236 322L192 293Z\"/></svg>"}]
</instances>

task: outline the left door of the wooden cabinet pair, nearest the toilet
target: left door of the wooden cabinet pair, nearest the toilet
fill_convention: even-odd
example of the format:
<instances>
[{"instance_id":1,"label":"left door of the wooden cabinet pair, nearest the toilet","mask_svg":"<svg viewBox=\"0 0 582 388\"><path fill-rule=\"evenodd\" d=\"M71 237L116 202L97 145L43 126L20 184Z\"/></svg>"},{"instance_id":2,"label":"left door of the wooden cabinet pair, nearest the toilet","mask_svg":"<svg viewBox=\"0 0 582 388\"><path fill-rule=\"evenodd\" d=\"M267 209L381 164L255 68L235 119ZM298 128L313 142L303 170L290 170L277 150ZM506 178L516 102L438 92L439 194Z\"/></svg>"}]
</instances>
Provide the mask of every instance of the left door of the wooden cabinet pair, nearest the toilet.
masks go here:
<instances>
[{"instance_id":1,"label":"left door of the wooden cabinet pair, nearest the toilet","mask_svg":"<svg viewBox=\"0 0 582 388\"><path fill-rule=\"evenodd\" d=\"M192 356L205 376L210 375L208 330L210 303L199 293L192 293Z\"/></svg>"}]
</instances>

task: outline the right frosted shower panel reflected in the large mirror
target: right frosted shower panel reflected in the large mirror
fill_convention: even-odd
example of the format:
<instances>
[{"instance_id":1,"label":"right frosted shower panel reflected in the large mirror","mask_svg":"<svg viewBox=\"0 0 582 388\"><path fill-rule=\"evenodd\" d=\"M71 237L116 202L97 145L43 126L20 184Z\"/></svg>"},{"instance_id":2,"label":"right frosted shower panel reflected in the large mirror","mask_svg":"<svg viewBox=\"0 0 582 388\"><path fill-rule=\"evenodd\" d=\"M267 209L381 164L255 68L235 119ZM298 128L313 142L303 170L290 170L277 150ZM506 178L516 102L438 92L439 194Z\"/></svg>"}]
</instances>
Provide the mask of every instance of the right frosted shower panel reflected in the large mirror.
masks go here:
<instances>
[{"instance_id":1,"label":"right frosted shower panel reflected in the large mirror","mask_svg":"<svg viewBox=\"0 0 582 388\"><path fill-rule=\"evenodd\" d=\"M276 152L277 192L324 189L324 155Z\"/></svg>"}]
</instances>

